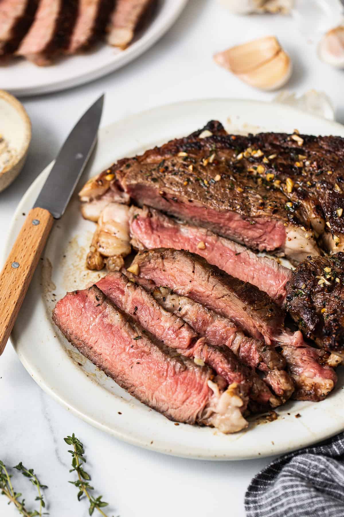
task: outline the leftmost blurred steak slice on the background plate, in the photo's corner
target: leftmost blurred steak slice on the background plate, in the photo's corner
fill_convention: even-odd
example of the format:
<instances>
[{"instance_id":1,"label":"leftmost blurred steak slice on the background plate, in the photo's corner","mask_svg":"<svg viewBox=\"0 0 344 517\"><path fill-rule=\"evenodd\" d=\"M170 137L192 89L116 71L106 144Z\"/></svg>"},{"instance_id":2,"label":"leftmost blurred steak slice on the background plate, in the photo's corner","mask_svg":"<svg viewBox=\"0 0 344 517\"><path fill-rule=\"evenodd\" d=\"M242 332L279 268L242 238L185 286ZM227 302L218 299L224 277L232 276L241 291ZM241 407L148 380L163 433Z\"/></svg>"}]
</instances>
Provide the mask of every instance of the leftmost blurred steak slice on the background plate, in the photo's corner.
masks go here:
<instances>
[{"instance_id":1,"label":"leftmost blurred steak slice on the background plate, in the photo's corner","mask_svg":"<svg viewBox=\"0 0 344 517\"><path fill-rule=\"evenodd\" d=\"M37 10L38 0L0 2L0 58L13 54L27 33Z\"/></svg>"}]
</instances>

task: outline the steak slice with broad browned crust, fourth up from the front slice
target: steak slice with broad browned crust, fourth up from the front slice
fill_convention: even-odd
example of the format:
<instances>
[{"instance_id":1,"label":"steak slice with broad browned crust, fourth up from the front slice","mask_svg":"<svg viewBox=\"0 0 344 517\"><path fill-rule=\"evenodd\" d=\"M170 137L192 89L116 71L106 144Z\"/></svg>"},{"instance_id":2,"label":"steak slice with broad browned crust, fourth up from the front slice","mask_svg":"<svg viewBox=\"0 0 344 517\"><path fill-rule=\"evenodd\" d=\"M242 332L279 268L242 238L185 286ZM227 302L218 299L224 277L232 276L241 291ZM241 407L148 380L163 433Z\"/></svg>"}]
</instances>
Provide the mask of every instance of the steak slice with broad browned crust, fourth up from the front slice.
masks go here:
<instances>
[{"instance_id":1,"label":"steak slice with broad browned crust, fourth up from the front slice","mask_svg":"<svg viewBox=\"0 0 344 517\"><path fill-rule=\"evenodd\" d=\"M137 276L153 280L157 286L166 285L175 293L202 303L233 320L250 336L264 339L267 345L281 339L284 311L255 285L210 266L201 256L157 248L138 253L133 265Z\"/></svg>"}]
</instances>

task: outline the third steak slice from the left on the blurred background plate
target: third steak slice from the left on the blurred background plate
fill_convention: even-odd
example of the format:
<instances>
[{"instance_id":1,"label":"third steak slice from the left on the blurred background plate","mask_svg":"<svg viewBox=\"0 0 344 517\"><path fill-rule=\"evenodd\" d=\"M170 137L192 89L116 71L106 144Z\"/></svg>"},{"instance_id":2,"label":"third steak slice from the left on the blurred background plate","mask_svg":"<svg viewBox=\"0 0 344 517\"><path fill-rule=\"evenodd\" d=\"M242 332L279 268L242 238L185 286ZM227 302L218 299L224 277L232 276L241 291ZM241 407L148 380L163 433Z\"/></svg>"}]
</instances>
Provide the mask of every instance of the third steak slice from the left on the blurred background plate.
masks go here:
<instances>
[{"instance_id":1,"label":"third steak slice from the left on the blurred background plate","mask_svg":"<svg viewBox=\"0 0 344 517\"><path fill-rule=\"evenodd\" d=\"M79 0L79 11L67 54L88 50L99 41L112 9L113 0Z\"/></svg>"}]
</instances>

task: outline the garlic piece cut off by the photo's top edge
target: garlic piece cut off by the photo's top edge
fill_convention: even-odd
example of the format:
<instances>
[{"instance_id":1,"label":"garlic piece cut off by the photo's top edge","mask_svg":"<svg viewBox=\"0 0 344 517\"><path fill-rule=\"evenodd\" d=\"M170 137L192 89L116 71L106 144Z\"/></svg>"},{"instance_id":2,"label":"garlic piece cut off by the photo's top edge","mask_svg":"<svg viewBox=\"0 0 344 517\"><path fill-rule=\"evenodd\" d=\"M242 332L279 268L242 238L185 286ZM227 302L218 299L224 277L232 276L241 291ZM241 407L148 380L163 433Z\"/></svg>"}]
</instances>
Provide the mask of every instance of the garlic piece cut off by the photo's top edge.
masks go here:
<instances>
[{"instance_id":1,"label":"garlic piece cut off by the photo's top edge","mask_svg":"<svg viewBox=\"0 0 344 517\"><path fill-rule=\"evenodd\" d=\"M293 0L218 0L221 5L234 14L281 13L289 14Z\"/></svg>"}]
</instances>

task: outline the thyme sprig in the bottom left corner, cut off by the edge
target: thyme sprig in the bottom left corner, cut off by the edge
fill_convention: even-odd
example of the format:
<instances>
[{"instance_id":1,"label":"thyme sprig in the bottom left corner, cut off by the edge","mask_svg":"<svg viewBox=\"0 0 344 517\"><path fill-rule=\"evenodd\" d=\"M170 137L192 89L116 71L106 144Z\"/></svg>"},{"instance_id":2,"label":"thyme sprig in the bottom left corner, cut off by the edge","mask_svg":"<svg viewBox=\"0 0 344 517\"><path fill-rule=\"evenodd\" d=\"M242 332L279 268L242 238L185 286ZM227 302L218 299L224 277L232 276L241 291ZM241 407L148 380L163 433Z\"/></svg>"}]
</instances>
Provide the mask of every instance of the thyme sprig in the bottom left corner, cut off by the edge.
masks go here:
<instances>
[{"instance_id":1,"label":"thyme sprig in the bottom left corner, cut off by the edge","mask_svg":"<svg viewBox=\"0 0 344 517\"><path fill-rule=\"evenodd\" d=\"M19 498L22 496L21 492L15 492L12 485L12 475L9 474L8 469L6 468L6 465L4 462L0 461L0 490L3 495L6 495L9 499L8 504L11 503L14 504L14 506L17 508L19 513L21 515L24 515L24 517L42 517L42 515L48 515L47 513L42 513L43 508L45 508L45 503L43 499L43 494L41 489L47 488L46 485L43 485L39 482L37 479L37 476L34 473L33 468L27 469L24 467L22 462L20 462L15 467L17 470L19 470L23 476L26 478L29 478L31 483L36 486L38 491L38 496L36 497L36 501L39 501L39 510L27 510L25 506L25 499L20 500Z\"/></svg>"}]
</instances>

